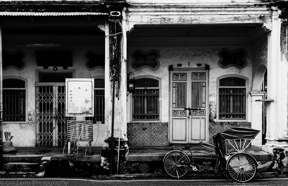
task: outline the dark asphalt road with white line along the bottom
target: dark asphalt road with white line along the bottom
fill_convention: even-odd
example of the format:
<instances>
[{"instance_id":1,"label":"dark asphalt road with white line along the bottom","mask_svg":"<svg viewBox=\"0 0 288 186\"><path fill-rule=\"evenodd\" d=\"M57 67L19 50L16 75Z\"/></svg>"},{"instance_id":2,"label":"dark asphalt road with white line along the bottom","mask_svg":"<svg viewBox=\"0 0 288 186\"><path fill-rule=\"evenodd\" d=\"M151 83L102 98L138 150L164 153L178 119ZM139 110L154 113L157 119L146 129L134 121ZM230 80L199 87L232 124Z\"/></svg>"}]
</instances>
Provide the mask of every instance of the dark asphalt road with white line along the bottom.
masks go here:
<instances>
[{"instance_id":1,"label":"dark asphalt road with white line along the bottom","mask_svg":"<svg viewBox=\"0 0 288 186\"><path fill-rule=\"evenodd\" d=\"M21 185L35 185L35 186L231 186L231 185L245 185L245 186L287 186L288 178L273 178L273 179L254 179L249 183L236 183L232 180L221 179L195 179L195 180L172 180L172 179L85 179L85 178L29 178L23 176L1 176L0 186L21 186Z\"/></svg>"}]
</instances>

